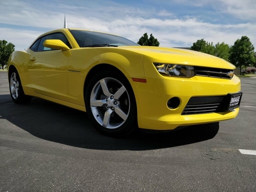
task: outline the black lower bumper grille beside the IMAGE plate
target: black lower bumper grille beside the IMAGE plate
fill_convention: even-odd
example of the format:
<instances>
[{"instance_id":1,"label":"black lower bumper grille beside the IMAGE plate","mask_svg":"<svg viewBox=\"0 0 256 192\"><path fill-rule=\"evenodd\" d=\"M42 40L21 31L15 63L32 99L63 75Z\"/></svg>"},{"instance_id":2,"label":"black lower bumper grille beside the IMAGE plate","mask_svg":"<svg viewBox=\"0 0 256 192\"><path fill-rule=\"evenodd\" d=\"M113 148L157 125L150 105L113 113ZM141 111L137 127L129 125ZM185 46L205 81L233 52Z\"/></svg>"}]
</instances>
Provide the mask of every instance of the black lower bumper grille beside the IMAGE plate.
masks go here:
<instances>
[{"instance_id":1,"label":"black lower bumper grille beside the IMAGE plate","mask_svg":"<svg viewBox=\"0 0 256 192\"><path fill-rule=\"evenodd\" d=\"M182 115L222 112L224 103L225 96L191 97Z\"/></svg>"}]
</instances>

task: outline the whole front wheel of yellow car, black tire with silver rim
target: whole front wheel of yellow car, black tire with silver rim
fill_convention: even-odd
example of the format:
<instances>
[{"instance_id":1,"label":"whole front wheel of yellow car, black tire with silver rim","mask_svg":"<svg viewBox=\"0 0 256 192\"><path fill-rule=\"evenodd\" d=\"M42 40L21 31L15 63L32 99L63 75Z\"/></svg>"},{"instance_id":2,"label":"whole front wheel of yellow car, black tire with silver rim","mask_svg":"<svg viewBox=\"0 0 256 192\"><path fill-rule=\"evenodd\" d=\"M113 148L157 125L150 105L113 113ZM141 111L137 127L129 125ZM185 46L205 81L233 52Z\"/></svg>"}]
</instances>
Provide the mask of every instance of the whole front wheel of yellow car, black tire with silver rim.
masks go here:
<instances>
[{"instance_id":1,"label":"whole front wheel of yellow car, black tire with silver rim","mask_svg":"<svg viewBox=\"0 0 256 192\"><path fill-rule=\"evenodd\" d=\"M102 71L93 76L84 95L88 117L102 134L127 136L138 127L131 84L118 72Z\"/></svg>"}]
</instances>

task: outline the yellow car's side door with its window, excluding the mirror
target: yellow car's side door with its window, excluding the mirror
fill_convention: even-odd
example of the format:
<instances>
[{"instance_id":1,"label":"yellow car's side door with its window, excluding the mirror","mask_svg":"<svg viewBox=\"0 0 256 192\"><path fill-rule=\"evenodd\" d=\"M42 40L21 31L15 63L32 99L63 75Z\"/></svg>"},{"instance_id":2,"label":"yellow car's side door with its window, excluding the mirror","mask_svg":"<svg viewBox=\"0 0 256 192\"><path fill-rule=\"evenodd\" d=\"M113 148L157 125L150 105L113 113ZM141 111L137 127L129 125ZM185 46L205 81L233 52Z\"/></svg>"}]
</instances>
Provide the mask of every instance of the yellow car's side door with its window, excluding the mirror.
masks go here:
<instances>
[{"instance_id":1,"label":"yellow car's side door with its window, excluding the mirror","mask_svg":"<svg viewBox=\"0 0 256 192\"><path fill-rule=\"evenodd\" d=\"M28 65L29 78L35 93L67 101L67 66L70 51L44 47L44 41L49 39L62 40L70 47L63 33L43 36L38 42L35 42L38 45L34 46L36 51L31 52L31 62Z\"/></svg>"}]
</instances>

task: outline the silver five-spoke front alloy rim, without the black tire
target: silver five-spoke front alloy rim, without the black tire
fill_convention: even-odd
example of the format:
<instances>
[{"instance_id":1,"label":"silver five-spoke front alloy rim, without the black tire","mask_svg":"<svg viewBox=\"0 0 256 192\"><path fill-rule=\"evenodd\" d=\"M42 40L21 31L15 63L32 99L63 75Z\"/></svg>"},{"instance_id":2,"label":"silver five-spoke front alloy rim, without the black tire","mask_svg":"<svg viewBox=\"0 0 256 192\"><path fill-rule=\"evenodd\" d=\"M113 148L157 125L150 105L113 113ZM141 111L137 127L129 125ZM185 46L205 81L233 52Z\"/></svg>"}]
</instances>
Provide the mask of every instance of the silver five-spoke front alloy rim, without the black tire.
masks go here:
<instances>
[{"instance_id":1,"label":"silver five-spoke front alloy rim, without the black tire","mask_svg":"<svg viewBox=\"0 0 256 192\"><path fill-rule=\"evenodd\" d=\"M95 120L107 129L117 129L127 120L131 108L129 93L117 79L100 79L92 89L90 107Z\"/></svg>"}]
</instances>

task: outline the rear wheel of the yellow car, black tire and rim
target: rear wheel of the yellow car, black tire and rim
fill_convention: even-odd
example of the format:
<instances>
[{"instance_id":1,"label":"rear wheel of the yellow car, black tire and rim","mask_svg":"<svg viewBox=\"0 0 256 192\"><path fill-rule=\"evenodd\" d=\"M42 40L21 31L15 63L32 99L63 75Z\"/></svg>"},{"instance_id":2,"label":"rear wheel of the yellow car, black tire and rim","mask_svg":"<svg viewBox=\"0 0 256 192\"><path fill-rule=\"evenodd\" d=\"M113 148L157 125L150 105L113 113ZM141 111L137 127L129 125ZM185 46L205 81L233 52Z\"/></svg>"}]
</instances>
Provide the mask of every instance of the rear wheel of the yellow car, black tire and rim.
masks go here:
<instances>
[{"instance_id":1,"label":"rear wheel of the yellow car, black tire and rim","mask_svg":"<svg viewBox=\"0 0 256 192\"><path fill-rule=\"evenodd\" d=\"M31 100L31 97L24 94L20 76L16 69L10 71L9 88L12 100L16 104L26 104Z\"/></svg>"}]
</instances>

